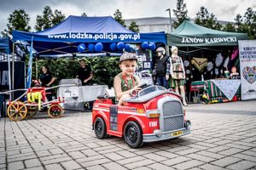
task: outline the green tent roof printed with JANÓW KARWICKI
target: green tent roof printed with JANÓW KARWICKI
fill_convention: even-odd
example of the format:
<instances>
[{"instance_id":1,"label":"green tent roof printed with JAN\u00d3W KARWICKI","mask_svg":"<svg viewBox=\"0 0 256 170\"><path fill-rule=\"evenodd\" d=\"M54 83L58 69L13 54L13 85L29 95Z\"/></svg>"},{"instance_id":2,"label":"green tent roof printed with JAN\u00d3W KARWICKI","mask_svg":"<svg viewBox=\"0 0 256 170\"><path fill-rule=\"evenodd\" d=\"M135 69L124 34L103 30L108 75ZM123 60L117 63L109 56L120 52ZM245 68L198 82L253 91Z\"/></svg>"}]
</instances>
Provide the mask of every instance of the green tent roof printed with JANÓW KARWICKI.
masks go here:
<instances>
[{"instance_id":1,"label":"green tent roof printed with JAN\u00d3W KARWICKI","mask_svg":"<svg viewBox=\"0 0 256 170\"><path fill-rule=\"evenodd\" d=\"M172 34L167 34L167 44L180 47L189 46L229 46L238 40L247 40L246 33L212 30L184 20Z\"/></svg>"}]
</instances>

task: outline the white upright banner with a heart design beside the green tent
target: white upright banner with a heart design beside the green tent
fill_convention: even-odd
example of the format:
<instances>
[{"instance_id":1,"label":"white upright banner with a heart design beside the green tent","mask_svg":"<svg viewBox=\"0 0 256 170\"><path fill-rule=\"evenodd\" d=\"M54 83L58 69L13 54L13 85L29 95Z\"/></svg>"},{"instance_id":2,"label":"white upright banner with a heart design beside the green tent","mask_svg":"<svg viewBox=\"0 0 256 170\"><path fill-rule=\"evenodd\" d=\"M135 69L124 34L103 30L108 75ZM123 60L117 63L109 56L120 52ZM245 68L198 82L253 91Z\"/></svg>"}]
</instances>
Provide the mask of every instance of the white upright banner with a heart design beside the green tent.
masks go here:
<instances>
[{"instance_id":1,"label":"white upright banner with a heart design beside the green tent","mask_svg":"<svg viewBox=\"0 0 256 170\"><path fill-rule=\"evenodd\" d=\"M256 40L238 41L241 99L256 99Z\"/></svg>"}]
</instances>

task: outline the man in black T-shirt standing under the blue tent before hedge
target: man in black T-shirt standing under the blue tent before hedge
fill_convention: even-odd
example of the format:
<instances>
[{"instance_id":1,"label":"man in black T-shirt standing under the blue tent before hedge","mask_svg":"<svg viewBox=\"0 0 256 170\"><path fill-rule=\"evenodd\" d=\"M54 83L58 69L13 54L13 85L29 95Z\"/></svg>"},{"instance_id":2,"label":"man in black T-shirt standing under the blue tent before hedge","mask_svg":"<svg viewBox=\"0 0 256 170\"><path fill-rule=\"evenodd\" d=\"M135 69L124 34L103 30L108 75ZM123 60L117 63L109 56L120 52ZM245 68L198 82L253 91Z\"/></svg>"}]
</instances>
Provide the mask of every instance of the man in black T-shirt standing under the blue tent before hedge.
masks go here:
<instances>
[{"instance_id":1,"label":"man in black T-shirt standing under the blue tent before hedge","mask_svg":"<svg viewBox=\"0 0 256 170\"><path fill-rule=\"evenodd\" d=\"M86 65L84 59L80 59L79 64L80 68L77 70L77 78L81 80L82 86L88 85L93 77L90 65Z\"/></svg>"}]
</instances>

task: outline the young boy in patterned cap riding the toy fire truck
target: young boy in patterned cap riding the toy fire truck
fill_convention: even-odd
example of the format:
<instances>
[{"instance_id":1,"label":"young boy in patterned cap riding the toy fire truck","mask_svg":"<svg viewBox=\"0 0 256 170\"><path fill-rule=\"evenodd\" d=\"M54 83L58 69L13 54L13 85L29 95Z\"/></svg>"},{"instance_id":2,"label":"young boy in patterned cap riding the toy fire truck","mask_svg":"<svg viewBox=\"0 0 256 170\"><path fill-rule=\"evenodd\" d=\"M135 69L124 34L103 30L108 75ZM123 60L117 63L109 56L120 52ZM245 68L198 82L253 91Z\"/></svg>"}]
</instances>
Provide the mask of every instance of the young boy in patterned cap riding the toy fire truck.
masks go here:
<instances>
[{"instance_id":1,"label":"young boy in patterned cap riding the toy fire truck","mask_svg":"<svg viewBox=\"0 0 256 170\"><path fill-rule=\"evenodd\" d=\"M116 99L119 100L119 105L123 105L124 99L130 98L134 92L139 91L141 88L139 77L135 76L137 65L137 57L135 54L125 53L119 59L119 68L122 70L113 79L113 88Z\"/></svg>"}]
</instances>

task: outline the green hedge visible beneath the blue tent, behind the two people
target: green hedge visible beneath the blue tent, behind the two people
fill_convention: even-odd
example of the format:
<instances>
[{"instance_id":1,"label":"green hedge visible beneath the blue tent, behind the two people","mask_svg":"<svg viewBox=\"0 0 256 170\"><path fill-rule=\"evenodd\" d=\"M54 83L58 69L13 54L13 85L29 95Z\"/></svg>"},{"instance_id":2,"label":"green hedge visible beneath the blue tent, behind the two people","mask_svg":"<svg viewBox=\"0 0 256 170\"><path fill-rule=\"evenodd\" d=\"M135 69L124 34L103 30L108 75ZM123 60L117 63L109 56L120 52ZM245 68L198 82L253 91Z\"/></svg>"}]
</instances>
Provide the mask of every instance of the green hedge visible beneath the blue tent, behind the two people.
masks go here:
<instances>
[{"instance_id":1,"label":"green hedge visible beneath the blue tent, behind the two people","mask_svg":"<svg viewBox=\"0 0 256 170\"><path fill-rule=\"evenodd\" d=\"M86 65L90 65L93 71L91 84L107 84L108 87L113 87L113 77L120 72L118 57L96 57L85 60ZM38 77L43 65L48 65L49 71L55 75L55 85L58 85L61 79L75 78L80 66L78 59L40 59L38 60ZM36 77L35 61L32 66L32 77Z\"/></svg>"}]
</instances>

